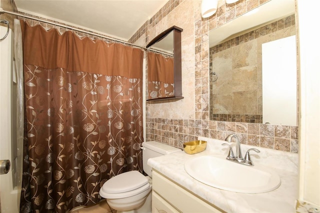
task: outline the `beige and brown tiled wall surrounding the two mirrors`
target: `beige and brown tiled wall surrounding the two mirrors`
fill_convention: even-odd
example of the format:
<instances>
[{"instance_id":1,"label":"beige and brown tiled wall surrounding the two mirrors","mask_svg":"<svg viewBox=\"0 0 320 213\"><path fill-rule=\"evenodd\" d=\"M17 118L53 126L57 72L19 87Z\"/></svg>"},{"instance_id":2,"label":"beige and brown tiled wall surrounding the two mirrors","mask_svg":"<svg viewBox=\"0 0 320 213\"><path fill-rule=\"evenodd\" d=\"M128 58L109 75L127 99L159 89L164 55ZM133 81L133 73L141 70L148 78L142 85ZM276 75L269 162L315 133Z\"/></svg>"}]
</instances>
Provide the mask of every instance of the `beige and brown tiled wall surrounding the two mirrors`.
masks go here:
<instances>
[{"instance_id":1,"label":"beige and brown tiled wall surrounding the two mirrors","mask_svg":"<svg viewBox=\"0 0 320 213\"><path fill-rule=\"evenodd\" d=\"M297 126L209 120L208 32L266 1L239 0L225 4L224 0L219 0L217 12L209 18L202 18L200 0L169 0L130 38L132 43L144 42L145 45L156 33L171 25L183 28L184 99L146 104L146 141L157 140L181 148L183 142L194 140L197 136L224 139L227 134L236 133L241 143L298 151ZM174 6L171 8L171 5Z\"/></svg>"}]
</instances>

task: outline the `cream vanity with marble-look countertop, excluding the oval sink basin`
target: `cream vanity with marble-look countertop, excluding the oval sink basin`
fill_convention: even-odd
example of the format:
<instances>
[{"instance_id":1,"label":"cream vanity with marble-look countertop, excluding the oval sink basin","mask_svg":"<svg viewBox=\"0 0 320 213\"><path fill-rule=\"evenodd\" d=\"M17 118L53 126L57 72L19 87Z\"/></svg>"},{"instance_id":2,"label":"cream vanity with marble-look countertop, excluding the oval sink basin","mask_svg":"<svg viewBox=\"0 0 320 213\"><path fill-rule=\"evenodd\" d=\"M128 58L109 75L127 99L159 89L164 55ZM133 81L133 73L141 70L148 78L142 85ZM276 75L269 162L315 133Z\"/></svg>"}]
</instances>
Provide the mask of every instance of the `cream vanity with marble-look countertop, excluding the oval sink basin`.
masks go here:
<instances>
[{"instance_id":1,"label":"cream vanity with marble-look countertop, excluding the oval sink basin","mask_svg":"<svg viewBox=\"0 0 320 213\"><path fill-rule=\"evenodd\" d=\"M176 152L150 158L152 167L152 212L294 212L297 198L296 153L258 148L252 154L255 164L274 170L281 179L278 188L264 193L238 193L218 189L192 178L185 170L185 161L201 155L226 156L222 140L199 137L208 142L206 150L196 154ZM242 151L253 146L243 145ZM243 165L245 166L245 165ZM237 178L241 173L234 173Z\"/></svg>"}]
</instances>

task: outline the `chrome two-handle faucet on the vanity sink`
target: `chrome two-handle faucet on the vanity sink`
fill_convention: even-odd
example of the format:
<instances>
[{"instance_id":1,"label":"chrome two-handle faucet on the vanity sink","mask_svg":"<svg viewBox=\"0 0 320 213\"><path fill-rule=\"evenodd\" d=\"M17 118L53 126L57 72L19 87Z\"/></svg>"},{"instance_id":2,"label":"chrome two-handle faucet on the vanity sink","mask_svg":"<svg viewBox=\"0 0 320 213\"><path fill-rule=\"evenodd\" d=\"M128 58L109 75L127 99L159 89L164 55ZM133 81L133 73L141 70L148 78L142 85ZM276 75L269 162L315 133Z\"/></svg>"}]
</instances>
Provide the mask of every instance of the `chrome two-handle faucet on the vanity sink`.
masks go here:
<instances>
[{"instance_id":1,"label":"chrome two-handle faucet on the vanity sink","mask_svg":"<svg viewBox=\"0 0 320 213\"><path fill-rule=\"evenodd\" d=\"M233 154L231 145L229 145L228 143L222 143L222 145L229 146L229 153L228 153L226 159L231 160L231 161L236 162L236 163L244 164L244 165L253 165L253 162L252 162L252 160L250 158L249 151L250 150L253 150L255 152L260 152L260 151L258 149L256 149L256 148L249 148L246 151L246 153L244 155L244 158L243 158L242 157L242 152L241 152L241 143L240 143L240 140L239 140L238 136L236 136L235 134L229 134L225 138L225 141L231 142L231 139L233 137L235 138L235 143L236 143L235 156Z\"/></svg>"}]
</instances>

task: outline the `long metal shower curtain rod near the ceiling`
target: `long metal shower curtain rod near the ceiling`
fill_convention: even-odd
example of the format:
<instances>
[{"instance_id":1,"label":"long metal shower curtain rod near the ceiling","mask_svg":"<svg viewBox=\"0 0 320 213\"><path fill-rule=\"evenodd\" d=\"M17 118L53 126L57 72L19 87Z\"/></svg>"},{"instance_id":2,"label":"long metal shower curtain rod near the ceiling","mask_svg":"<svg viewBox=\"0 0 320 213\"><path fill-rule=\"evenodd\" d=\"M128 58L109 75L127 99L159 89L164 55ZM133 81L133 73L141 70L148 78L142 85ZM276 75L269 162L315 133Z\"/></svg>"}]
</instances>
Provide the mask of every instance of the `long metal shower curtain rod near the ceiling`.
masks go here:
<instances>
[{"instance_id":1,"label":"long metal shower curtain rod near the ceiling","mask_svg":"<svg viewBox=\"0 0 320 213\"><path fill-rule=\"evenodd\" d=\"M83 32L83 33L86 33L86 34L95 35L95 36L98 36L98 37L103 37L103 38L106 38L106 39L109 39L109 40L113 40L113 41L117 41L117 42L120 42L120 43L125 43L125 44L131 45L131 46L136 46L136 47L139 47L139 48L142 48L142 49L146 49L143 46L139 46L139 45L136 45L136 44L133 44L133 43L129 43L129 42L126 42L126 41L123 41L123 40L120 40L120 39L113 38L113 37L100 35L100 34L97 34L95 32L89 32L89 31L85 31L85 30L82 30L82 29L73 28L71 26L55 23L55 22L48 21L48 20L41 20L39 18L35 18L35 17L32 17L32 16L24 15L24 14L20 14L18 12L12 12L12 11L3 10L2 7L0 7L0 14L1 13L7 13L7 14L10 14L10 15L16 15L16 16L19 16L19 17L28 18L28 19L31 19L31 20L39 21L39 22L52 24L52 25L55 25L55 26L61 26L61 27L64 27L64 28L67 28L67 29L71 29L71 30L74 30L74 31Z\"/></svg>"}]
</instances>

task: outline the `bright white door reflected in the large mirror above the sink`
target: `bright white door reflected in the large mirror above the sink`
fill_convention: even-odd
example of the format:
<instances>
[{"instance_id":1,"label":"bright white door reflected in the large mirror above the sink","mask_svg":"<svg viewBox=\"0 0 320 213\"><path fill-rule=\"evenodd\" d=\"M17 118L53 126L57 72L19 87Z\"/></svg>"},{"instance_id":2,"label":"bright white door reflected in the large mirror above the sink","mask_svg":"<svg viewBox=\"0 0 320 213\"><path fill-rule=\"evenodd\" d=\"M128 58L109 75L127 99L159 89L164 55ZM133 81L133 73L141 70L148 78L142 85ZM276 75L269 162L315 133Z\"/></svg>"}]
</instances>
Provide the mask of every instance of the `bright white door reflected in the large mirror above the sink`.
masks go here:
<instances>
[{"instance_id":1,"label":"bright white door reflected in the large mirror above the sink","mask_svg":"<svg viewBox=\"0 0 320 213\"><path fill-rule=\"evenodd\" d=\"M292 35L262 43L263 123L297 125L295 42Z\"/></svg>"}]
</instances>

